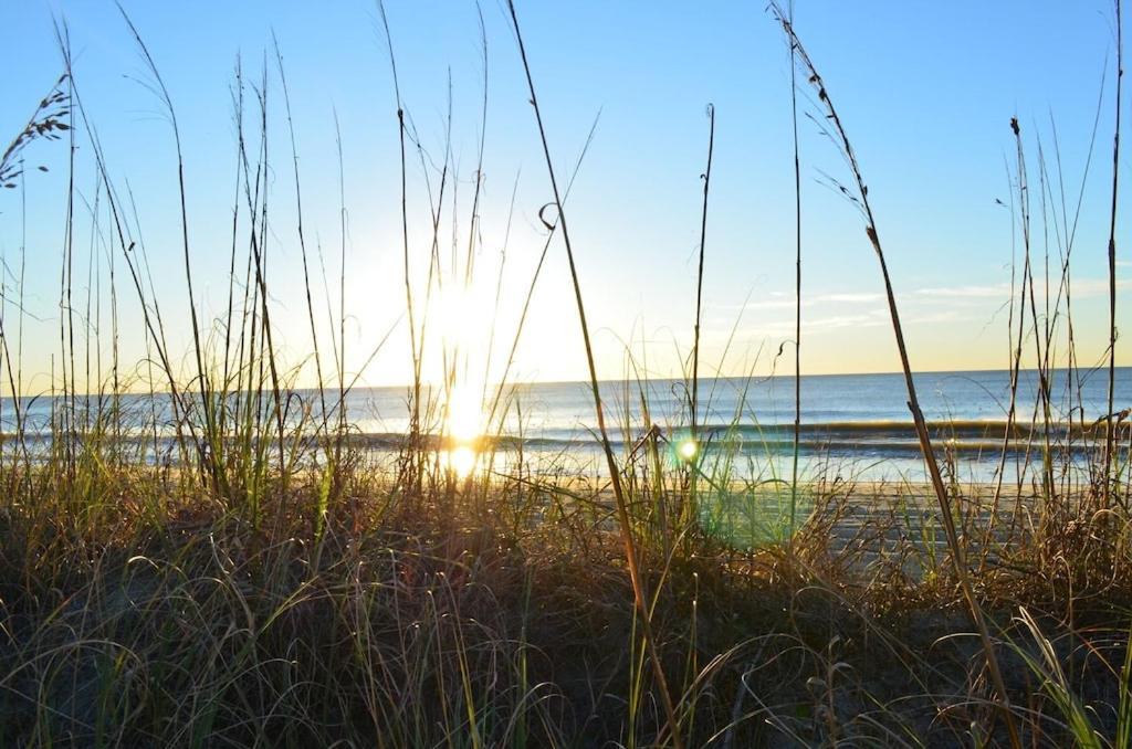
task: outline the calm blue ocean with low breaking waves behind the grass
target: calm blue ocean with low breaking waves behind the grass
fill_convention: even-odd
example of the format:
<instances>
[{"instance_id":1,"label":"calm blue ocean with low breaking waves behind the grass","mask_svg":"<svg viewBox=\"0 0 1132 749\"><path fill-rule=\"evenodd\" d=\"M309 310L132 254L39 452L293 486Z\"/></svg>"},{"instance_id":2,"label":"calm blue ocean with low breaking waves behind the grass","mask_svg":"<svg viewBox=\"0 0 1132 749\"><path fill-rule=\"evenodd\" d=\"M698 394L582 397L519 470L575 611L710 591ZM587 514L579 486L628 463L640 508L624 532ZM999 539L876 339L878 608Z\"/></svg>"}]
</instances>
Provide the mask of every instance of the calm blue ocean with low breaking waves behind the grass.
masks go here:
<instances>
[{"instance_id":1,"label":"calm blue ocean with low breaking waves behind the grass","mask_svg":"<svg viewBox=\"0 0 1132 749\"><path fill-rule=\"evenodd\" d=\"M1047 439L1063 467L1083 468L1090 451L1090 440L1083 437L1097 433L1096 422L1106 413L1106 370L1082 370L1072 377L1067 370L1052 372L1048 416L1038 406L1038 373L1023 370L1011 446L1004 458L1009 371L924 372L915 379L937 455L962 480L988 481L1000 470L1005 477L1017 479L1040 464ZM640 457L641 450L635 447L653 425L668 458L683 459L680 450L687 448L692 427L689 394L683 380L604 381L600 388L610 437L623 463ZM788 477L794 453L794 388L792 377L701 380L696 419L700 468L745 479ZM457 396L463 403L454 403L454 411L457 406L463 413L471 411L477 423L454 441L490 453L495 470L506 471L522 460L533 472L607 472L588 382L508 386L495 404L490 427L487 414L492 412L495 393L489 390L482 402L481 395ZM310 410L317 412L317 391L297 390L293 396L288 412L291 423ZM327 391L332 404L336 396L336 390ZM409 396L405 387L352 390L346 398L346 415L353 439L376 453L395 450L409 428ZM157 398L161 406L155 410L148 396L123 397L122 410L134 414L126 417L126 423L144 424L138 432L152 433L153 417L147 414L156 413L157 432L170 436L169 398ZM424 408L422 423L440 432L445 396L434 390L428 401L431 406ZM0 401L0 425L6 434L16 429L14 405L11 398ZM58 419L63 406L61 399L51 397L23 399L25 433L33 440L45 440L51 434L52 419ZM1114 410L1130 406L1132 368L1120 368ZM95 406L91 398L78 396L75 407L82 428L86 408ZM475 433L489 434L490 439L473 438ZM1126 428L1122 428L1121 437L1126 438ZM494 449L486 449L486 445ZM804 376L799 463L804 479L924 481L926 473L903 376Z\"/></svg>"}]
</instances>

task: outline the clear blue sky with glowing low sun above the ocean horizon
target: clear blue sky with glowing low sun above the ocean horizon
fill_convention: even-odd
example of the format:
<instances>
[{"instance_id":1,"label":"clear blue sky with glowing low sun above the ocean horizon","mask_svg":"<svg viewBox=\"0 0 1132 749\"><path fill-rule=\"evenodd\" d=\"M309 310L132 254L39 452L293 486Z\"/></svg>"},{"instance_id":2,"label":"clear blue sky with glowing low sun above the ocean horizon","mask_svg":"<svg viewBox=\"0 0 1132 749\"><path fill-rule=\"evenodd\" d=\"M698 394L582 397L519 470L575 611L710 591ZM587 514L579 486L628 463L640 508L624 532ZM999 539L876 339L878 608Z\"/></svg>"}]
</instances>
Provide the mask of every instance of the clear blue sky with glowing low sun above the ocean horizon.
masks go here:
<instances>
[{"instance_id":1,"label":"clear blue sky with glowing low sun above the ocean horizon","mask_svg":"<svg viewBox=\"0 0 1132 749\"><path fill-rule=\"evenodd\" d=\"M599 374L678 376L686 365L695 319L709 104L715 112L715 138L702 368L723 374L791 373L790 59L765 3L516 5L560 181L584 150L566 215ZM309 385L315 377L297 229L295 162L274 38L292 109L320 344L328 348L337 329L327 320L326 307L336 311L341 302L346 311L348 372L368 385L409 381L397 100L378 6L368 0L123 0L122 7L152 53L177 115L190 262L206 338L215 345L222 336L215 320L223 316L229 293L238 199L232 92L239 55L248 127L258 118L251 110L266 66L266 252L274 337L298 384ZM501 377L547 239L540 209L554 200L505 3L482 0L479 10L482 37L474 2L386 2L402 102L422 148L418 152L410 144L405 205L418 327L424 319L424 299L430 299L424 374L434 380L445 361L482 372L480 378ZM1115 114L1110 3L798 0L795 15L869 187L912 365L925 371L994 369L1009 361L1011 279L1021 264L1018 215L1010 209L1018 201L1010 130L1014 117L1031 179L1032 250L1039 272L1048 252L1056 274L1064 251L1055 239L1062 216L1073 216L1078 195L1083 195L1071 261L1074 334L1082 364L1101 362ZM6 77L0 139L7 141L23 128L61 72L53 24L62 21L70 35L75 84L105 153L110 179L120 195L132 195L131 233L144 240L170 351L181 356L175 365L189 372L191 333L173 131L113 2L28 0L0 6L0 23L8 31L6 69L19 74ZM487 109L481 120L483 38ZM799 93L803 371L894 371L899 360L876 258L860 216L829 187L830 178L849 178L846 164L821 132L822 113L812 94ZM252 135L258 147L258 135ZM482 183L473 232L481 137ZM1050 179L1048 193L1055 198L1045 210L1036 184L1039 148ZM24 372L22 387L29 393L46 390L52 378L58 382L58 371L52 372L62 360L67 155L66 140L33 143L25 153L28 170L22 189L0 193L6 327ZM429 190L435 200L444 164L446 192L439 230L434 232ZM32 169L37 165L48 171ZM1121 179L1126 179L1127 165L1122 156ZM79 325L76 351L83 356L89 339L103 362L109 358L113 259L121 358L140 362L146 356L140 307L123 277L121 249L111 241L105 201L98 203L85 132L76 136L75 189L71 309L101 334L88 334L85 322ZM1118 253L1126 246L1125 226L1121 216ZM429 292L434 234L440 290ZM242 264L247 241L241 241ZM343 244L344 301L337 292ZM325 286L316 270L319 247L328 276ZM14 330L22 259L25 315ZM1129 269L1132 266L1122 261L1118 272ZM471 283L464 287L469 275ZM1123 281L1120 289L1122 326L1132 312L1132 295ZM1040 286L1038 305L1044 307ZM1127 344L1120 343L1118 363L1126 361L1126 352ZM135 371L142 377L144 367ZM555 236L508 377L571 380L585 374L566 252Z\"/></svg>"}]
</instances>

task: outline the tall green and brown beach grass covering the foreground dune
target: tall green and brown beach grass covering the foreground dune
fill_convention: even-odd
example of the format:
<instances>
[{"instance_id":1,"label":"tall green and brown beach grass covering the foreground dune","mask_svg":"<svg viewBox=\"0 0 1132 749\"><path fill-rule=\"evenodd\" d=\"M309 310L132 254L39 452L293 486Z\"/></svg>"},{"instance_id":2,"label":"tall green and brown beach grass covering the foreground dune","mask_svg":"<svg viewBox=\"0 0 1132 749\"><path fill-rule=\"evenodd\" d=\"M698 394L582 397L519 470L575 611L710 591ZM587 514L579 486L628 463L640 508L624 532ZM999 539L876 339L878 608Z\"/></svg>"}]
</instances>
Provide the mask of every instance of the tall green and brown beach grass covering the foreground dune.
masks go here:
<instances>
[{"instance_id":1,"label":"tall green and brown beach grass covering the foreground dune","mask_svg":"<svg viewBox=\"0 0 1132 749\"><path fill-rule=\"evenodd\" d=\"M998 471L977 483L962 477L960 457L920 414L880 217L850 124L840 120L788 9L772 3L770 21L780 24L799 91L812 89L821 124L846 158L842 191L861 213L880 260L926 480L876 482L851 464L821 463L801 475L800 396L790 470L749 477L737 465L744 455L726 449L726 437L709 451L697 431L701 404L710 398L701 389L698 294L711 262L714 110L698 272L688 279L689 298L697 299L685 384L691 438L674 445L675 432L654 428L645 377L625 384L623 401L640 406L633 413L615 413L609 386L598 379L575 266L582 250L568 233L573 174L556 171L522 14L511 1L507 10L533 110L530 122L513 127L540 136L554 195L539 216L547 230L542 258L559 244L568 256L566 281L576 302L571 313L585 341L576 355L586 358L591 377L600 472L578 472L565 457L557 467L539 458L534 470L522 439L506 460L496 459L498 446L514 438L503 433L507 414L522 408L506 376L498 386L482 386L486 415L477 432L457 429L453 394L468 387L461 342L439 342L445 379L432 387L423 381L440 283L483 273L473 268L482 141L475 196L463 215L454 199L446 201L458 177L451 156L429 172L431 236L423 247L413 244L408 178L419 144L395 88L405 294L398 322L409 329L415 377L406 388L405 433L376 451L359 438L346 410L357 379L344 365L345 227L335 265L303 227L293 131L286 157L268 158L267 113L280 106L267 101L268 76L281 84L291 127L278 45L258 83L246 80L240 66L234 74L226 299L224 313L208 320L192 292L200 269L190 229L204 218L187 208L177 110L143 32L126 18L173 128L178 169L171 180L180 195L175 235L188 310L163 305L154 292L132 199L87 119L67 29L59 28L63 75L0 162L0 181L18 188L28 144L71 146L46 438L26 424L32 403L23 382L32 372L23 371L16 350L23 336L12 333L25 315L22 303L9 301L22 298L23 275L15 290L0 294L0 380L8 395L19 396L6 401L15 408L15 428L0 444L0 744L1127 746L1127 414L1114 412L1114 345L1105 362L1108 415L1087 422L1083 408L1070 408L1066 425L1055 414L1052 372L1067 369L1070 387L1075 381L1080 388L1083 369L1072 343L1069 251L1054 293L1045 293L1056 299L1050 317L1035 302L1032 160L1017 120L1015 223L1024 255L1007 322L1011 403ZM396 80L394 29L384 9L379 17ZM1118 28L1118 5L1116 20ZM482 25L480 36L482 134ZM797 131L795 138L797 153ZM83 259L72 210L79 155L93 162L91 192L101 207L92 213L102 217L96 233L112 250L113 264L102 269L105 287L74 276ZM338 155L341 174L341 139ZM800 335L797 163L796 156L798 241L791 249ZM280 174L294 186L301 304L312 345L302 353L318 379L308 389L295 387L298 370L284 363L284 342L272 322L264 238L267 183ZM1114 170L1113 226L1117 187ZM344 188L338 198L344 224ZM447 242L446 212L468 238L461 252L453 241L452 261L438 251ZM410 273L411 256L428 258L423 284ZM327 277L327 267L337 278ZM517 292L528 303L541 261L538 268ZM106 326L75 312L83 304L78 289L110 296L114 311ZM137 322L148 356L140 365L118 359L119 294L132 295L142 311ZM87 310L104 302L85 300ZM509 351L505 372L525 309L516 330L498 333ZM174 351L164 320L185 313L191 350ZM1070 328L1067 351L1054 345L1061 334L1048 321L1058 316ZM1039 368L1032 404L1015 402L1023 344L1036 346ZM101 360L104 350L109 362ZM100 385L93 391L79 385L91 382ZM128 397L137 393L149 397ZM739 402L736 428L747 422ZM1007 455L1023 456L1029 466L1017 481L1003 470Z\"/></svg>"}]
</instances>

